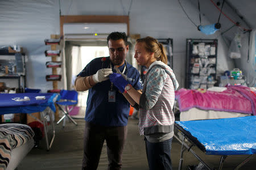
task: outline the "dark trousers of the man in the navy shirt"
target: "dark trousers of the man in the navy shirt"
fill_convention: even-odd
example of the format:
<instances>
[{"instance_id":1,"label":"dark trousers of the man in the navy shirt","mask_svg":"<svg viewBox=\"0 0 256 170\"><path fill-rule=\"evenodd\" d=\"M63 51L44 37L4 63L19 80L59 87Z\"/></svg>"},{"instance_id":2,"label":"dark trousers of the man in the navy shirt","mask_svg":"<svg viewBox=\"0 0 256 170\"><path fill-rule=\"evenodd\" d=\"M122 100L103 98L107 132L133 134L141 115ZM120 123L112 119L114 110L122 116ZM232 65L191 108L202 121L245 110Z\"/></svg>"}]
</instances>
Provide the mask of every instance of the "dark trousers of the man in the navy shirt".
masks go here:
<instances>
[{"instance_id":1,"label":"dark trousers of the man in the navy shirt","mask_svg":"<svg viewBox=\"0 0 256 170\"><path fill-rule=\"evenodd\" d=\"M101 150L106 140L108 148L109 170L121 169L122 152L127 137L127 126L98 126L85 122L84 158L82 170L97 169Z\"/></svg>"}]
</instances>

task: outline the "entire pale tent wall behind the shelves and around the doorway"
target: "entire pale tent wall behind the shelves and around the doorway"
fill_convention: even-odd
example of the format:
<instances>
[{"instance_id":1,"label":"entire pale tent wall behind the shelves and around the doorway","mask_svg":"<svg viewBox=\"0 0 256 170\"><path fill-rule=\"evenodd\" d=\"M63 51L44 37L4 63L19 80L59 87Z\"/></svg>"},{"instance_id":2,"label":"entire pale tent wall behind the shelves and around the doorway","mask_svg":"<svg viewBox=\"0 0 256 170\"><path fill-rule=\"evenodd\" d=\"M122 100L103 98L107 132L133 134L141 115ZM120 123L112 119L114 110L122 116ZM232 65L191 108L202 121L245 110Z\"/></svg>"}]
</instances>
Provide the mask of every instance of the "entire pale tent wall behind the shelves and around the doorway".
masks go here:
<instances>
[{"instance_id":1,"label":"entire pale tent wall behind the shelves and around the doorway","mask_svg":"<svg viewBox=\"0 0 256 170\"><path fill-rule=\"evenodd\" d=\"M60 1L61 15L127 15L131 1L88 0ZM190 18L199 24L199 13L190 0L181 1ZM123 4L123 7L122 7ZM228 46L220 34L206 36L197 31L181 10L177 0L133 1L130 10L130 34L142 37L172 38L174 40L174 72L181 85L185 81L186 39L218 39L218 72L233 69L232 59L227 57ZM202 16L205 24L208 19ZM42 92L52 89L52 82L45 76L51 74L46 68L44 39L59 34L59 1L0 1L0 46L20 45L28 56L27 87L40 88ZM59 83L59 88L63 88Z\"/></svg>"}]
</instances>

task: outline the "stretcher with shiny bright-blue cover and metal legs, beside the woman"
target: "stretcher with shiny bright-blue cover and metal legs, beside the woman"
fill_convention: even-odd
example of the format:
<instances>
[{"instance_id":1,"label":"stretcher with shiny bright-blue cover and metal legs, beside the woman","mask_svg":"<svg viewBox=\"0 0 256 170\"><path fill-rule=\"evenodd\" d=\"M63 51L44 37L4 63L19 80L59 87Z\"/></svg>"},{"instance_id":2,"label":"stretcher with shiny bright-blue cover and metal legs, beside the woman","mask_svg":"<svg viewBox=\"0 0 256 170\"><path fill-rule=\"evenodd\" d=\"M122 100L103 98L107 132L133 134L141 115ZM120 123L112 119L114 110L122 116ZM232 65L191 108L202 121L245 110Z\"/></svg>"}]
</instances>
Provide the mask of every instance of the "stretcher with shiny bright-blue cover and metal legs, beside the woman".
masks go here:
<instances>
[{"instance_id":1,"label":"stretcher with shiny bright-blue cover and metal legs, beside the woman","mask_svg":"<svg viewBox=\"0 0 256 170\"><path fill-rule=\"evenodd\" d=\"M256 116L176 121L175 128L182 135L182 139L174 135L181 143L179 169L182 168L185 150L190 151L207 169L212 169L192 150L193 146L207 155L220 155L218 169L222 169L228 155L249 155L235 168L239 169L256 154Z\"/></svg>"}]
</instances>

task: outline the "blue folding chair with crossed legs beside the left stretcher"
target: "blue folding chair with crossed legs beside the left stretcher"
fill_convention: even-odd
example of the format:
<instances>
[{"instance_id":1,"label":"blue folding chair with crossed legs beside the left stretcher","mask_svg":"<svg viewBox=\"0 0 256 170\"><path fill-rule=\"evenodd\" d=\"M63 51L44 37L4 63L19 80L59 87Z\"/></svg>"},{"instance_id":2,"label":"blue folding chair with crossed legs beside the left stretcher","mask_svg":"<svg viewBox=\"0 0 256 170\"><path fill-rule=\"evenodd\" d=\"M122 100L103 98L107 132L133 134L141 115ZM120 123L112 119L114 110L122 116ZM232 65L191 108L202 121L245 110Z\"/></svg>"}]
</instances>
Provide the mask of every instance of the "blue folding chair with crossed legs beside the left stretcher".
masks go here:
<instances>
[{"instance_id":1,"label":"blue folding chair with crossed legs beside the left stretcher","mask_svg":"<svg viewBox=\"0 0 256 170\"><path fill-rule=\"evenodd\" d=\"M59 124L63 120L63 128L65 126L65 117L68 117L69 120L73 122L73 124L77 125L76 121L69 115L69 113L73 110L75 105L77 104L77 91L75 90L61 90L60 91L60 101L56 102L57 106L64 113L64 116L57 121ZM65 109L63 109L64 106ZM68 108L68 106L72 106L72 108Z\"/></svg>"}]
</instances>

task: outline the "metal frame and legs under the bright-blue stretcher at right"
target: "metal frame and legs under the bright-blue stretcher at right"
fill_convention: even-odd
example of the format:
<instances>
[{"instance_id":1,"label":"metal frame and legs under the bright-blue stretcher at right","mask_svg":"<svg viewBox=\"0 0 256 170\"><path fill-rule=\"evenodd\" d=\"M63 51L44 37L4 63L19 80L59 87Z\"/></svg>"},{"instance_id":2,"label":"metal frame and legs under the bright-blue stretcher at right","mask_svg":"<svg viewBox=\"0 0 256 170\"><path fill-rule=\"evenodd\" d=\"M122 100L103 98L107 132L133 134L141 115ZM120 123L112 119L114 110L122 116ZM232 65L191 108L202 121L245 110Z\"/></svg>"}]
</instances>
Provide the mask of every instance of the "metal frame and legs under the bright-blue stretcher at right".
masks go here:
<instances>
[{"instance_id":1,"label":"metal frame and legs under the bright-blue stretcher at right","mask_svg":"<svg viewBox=\"0 0 256 170\"><path fill-rule=\"evenodd\" d=\"M181 170L182 168L182 163L183 163L183 153L185 150L187 150L188 152L191 152L191 154L193 154L193 156L195 156L196 159L198 159L202 164L204 164L205 168L209 169L209 170L214 170L214 168L210 168L210 166L204 162L203 159L200 158L199 155L196 154L195 151L192 150L193 146L197 146L200 148L201 151L205 152L205 147L203 145L201 145L201 143L199 141L197 141L197 139L193 136L191 136L191 138L189 138L189 134L187 133L187 131L185 131L183 128L181 128L181 126L177 125L175 122L175 128L180 132L180 134L182 135L182 141L179 137L177 137L177 135L174 134L174 137L177 139L177 141L181 144L181 150L180 150L180 159L179 159L179 170ZM186 141L189 142L189 144L191 144L190 146L187 145L187 143L185 143L185 139L187 139ZM218 170L221 170L223 168L223 164L225 159L228 157L228 155L220 155L220 163L219 163L219 167ZM249 155L247 156L246 159L244 159L240 164L237 165L236 168L234 168L234 170L238 170L242 167L242 165L246 164L251 158L253 158L254 155Z\"/></svg>"}]
</instances>

